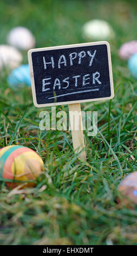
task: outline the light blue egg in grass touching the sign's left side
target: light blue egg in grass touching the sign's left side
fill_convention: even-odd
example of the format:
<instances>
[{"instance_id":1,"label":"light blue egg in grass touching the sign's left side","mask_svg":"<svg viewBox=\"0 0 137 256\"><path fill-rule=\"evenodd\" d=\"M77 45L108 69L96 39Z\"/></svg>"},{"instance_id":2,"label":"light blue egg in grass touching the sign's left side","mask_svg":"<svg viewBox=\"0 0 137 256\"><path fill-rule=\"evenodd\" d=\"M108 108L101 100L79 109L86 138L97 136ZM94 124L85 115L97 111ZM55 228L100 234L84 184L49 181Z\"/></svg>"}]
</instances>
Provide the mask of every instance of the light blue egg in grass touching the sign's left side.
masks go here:
<instances>
[{"instance_id":1,"label":"light blue egg in grass touching the sign's left side","mask_svg":"<svg viewBox=\"0 0 137 256\"><path fill-rule=\"evenodd\" d=\"M19 87L22 84L26 84L28 87L31 86L29 65L21 65L12 70L7 81L11 87Z\"/></svg>"}]
</instances>

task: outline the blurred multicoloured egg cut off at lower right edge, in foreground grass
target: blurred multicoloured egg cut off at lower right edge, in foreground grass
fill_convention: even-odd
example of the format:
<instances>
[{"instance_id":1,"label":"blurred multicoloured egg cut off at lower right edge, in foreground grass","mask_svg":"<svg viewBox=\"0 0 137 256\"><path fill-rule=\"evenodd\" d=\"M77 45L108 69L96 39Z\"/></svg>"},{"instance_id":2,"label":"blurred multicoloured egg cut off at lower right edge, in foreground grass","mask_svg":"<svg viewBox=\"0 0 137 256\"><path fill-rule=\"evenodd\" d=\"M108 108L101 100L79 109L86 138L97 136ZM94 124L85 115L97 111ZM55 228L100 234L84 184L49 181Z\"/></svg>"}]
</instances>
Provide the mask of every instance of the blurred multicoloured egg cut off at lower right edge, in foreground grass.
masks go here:
<instances>
[{"instance_id":1,"label":"blurred multicoloured egg cut off at lower right edge, in foreground grass","mask_svg":"<svg viewBox=\"0 0 137 256\"><path fill-rule=\"evenodd\" d=\"M122 202L126 205L131 202L137 204L137 172L127 175L120 182L118 190L121 192ZM118 202L120 202L119 199Z\"/></svg>"}]
</instances>

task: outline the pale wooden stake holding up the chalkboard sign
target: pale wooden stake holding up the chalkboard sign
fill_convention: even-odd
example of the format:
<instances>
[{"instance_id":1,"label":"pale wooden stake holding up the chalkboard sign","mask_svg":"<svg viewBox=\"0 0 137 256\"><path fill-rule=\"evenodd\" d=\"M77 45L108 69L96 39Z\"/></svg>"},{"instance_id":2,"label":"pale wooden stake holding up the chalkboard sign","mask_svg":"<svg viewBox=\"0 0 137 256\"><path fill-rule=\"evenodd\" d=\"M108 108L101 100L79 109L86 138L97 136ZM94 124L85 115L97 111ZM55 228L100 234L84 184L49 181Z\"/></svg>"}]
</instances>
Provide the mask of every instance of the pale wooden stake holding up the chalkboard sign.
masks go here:
<instances>
[{"instance_id":1,"label":"pale wooden stake holding up the chalkboard sign","mask_svg":"<svg viewBox=\"0 0 137 256\"><path fill-rule=\"evenodd\" d=\"M81 117L81 106L80 106L80 103L69 104L68 106L69 106L71 134L73 139L73 148L75 153L79 153L85 147L83 130L82 130L83 126L82 126L82 117ZM75 111L77 112L77 114L74 114ZM75 119L79 121L79 126L78 124L75 124ZM76 127L75 125L78 128L77 130L75 130L75 127ZM81 154L79 155L79 158L86 161L85 149L82 150Z\"/></svg>"}]
</instances>

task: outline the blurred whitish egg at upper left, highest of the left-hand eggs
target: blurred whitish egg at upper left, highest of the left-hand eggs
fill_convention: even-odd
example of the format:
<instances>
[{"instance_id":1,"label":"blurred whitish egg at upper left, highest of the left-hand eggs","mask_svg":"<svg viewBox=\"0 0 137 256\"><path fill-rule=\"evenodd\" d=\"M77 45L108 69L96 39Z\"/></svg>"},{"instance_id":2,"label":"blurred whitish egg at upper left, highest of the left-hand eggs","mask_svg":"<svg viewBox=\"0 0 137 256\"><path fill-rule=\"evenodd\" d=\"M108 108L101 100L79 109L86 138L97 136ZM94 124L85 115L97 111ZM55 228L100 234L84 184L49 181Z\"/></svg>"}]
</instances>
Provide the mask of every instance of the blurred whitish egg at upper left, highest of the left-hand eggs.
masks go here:
<instances>
[{"instance_id":1,"label":"blurred whitish egg at upper left, highest of the left-hand eggs","mask_svg":"<svg viewBox=\"0 0 137 256\"><path fill-rule=\"evenodd\" d=\"M15 27L9 32L7 43L21 50L29 50L35 47L35 38L28 28Z\"/></svg>"}]
</instances>

